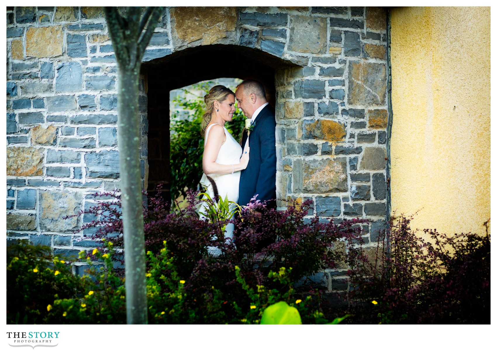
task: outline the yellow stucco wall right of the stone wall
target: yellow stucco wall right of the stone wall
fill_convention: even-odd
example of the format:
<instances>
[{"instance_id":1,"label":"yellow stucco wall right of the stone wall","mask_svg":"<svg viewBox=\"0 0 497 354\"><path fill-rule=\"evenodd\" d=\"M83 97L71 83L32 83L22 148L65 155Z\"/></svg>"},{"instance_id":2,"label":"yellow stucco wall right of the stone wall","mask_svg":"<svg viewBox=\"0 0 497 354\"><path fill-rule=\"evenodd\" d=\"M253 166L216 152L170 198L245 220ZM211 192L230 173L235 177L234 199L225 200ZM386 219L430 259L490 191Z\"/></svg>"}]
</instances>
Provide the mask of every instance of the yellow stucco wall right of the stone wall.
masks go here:
<instances>
[{"instance_id":1,"label":"yellow stucco wall right of the stone wall","mask_svg":"<svg viewBox=\"0 0 497 354\"><path fill-rule=\"evenodd\" d=\"M490 7L391 10L392 211L484 233L490 218Z\"/></svg>"}]
</instances>

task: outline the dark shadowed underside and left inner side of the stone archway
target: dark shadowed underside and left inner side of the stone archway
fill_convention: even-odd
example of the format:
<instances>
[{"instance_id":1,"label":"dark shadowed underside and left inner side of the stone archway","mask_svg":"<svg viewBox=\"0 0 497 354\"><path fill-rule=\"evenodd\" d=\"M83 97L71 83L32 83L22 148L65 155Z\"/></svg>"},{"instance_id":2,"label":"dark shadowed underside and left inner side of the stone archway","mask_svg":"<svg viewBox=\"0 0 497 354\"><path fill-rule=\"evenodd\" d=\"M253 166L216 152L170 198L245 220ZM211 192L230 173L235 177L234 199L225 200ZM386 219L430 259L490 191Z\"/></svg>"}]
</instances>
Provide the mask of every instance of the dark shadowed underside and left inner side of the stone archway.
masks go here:
<instances>
[{"instance_id":1,"label":"dark shadowed underside and left inner side of the stone archway","mask_svg":"<svg viewBox=\"0 0 497 354\"><path fill-rule=\"evenodd\" d=\"M163 184L168 193L169 91L199 81L220 77L254 78L264 84L267 99L276 111L276 82L281 85L285 71L296 66L260 50L235 45L210 45L187 48L144 63L145 91L148 96L148 176L146 185L154 191Z\"/></svg>"}]
</instances>

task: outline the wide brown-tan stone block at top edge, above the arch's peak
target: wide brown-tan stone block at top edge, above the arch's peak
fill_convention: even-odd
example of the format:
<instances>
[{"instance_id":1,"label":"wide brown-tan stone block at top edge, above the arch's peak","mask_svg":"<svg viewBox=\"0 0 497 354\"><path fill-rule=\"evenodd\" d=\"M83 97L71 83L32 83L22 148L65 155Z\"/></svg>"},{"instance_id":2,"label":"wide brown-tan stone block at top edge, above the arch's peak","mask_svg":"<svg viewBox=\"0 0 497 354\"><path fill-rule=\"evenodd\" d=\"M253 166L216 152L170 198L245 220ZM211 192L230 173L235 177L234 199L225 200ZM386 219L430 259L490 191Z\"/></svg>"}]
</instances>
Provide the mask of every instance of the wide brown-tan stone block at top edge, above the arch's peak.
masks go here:
<instances>
[{"instance_id":1,"label":"wide brown-tan stone block at top edge, above the arch's peak","mask_svg":"<svg viewBox=\"0 0 497 354\"><path fill-rule=\"evenodd\" d=\"M235 31L237 12L235 7L174 7L171 21L180 42L202 39L202 45L209 45Z\"/></svg>"}]
</instances>

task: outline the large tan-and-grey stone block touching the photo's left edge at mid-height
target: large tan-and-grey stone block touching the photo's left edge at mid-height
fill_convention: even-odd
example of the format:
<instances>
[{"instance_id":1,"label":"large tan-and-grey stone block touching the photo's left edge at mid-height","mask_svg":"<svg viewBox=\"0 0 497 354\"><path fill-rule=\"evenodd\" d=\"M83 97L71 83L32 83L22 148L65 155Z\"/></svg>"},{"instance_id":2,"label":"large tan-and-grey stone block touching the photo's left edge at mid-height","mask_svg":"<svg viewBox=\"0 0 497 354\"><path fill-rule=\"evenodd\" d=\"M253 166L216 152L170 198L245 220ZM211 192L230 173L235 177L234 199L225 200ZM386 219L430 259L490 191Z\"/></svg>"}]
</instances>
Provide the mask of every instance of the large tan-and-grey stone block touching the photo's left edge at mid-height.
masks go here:
<instances>
[{"instance_id":1,"label":"large tan-and-grey stone block touching the photo's left edge at mid-height","mask_svg":"<svg viewBox=\"0 0 497 354\"><path fill-rule=\"evenodd\" d=\"M42 176L43 149L7 147L7 176Z\"/></svg>"}]
</instances>

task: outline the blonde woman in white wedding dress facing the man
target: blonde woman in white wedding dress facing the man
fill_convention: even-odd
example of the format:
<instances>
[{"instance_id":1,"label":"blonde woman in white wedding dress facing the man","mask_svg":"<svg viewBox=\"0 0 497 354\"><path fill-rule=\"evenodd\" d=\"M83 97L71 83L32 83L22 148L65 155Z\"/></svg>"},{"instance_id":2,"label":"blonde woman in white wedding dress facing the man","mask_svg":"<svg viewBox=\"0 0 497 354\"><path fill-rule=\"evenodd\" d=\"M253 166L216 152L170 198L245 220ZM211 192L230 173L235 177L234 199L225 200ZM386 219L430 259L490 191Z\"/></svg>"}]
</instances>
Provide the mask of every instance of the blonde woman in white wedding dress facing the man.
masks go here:
<instances>
[{"instance_id":1,"label":"blonde woman in white wedding dress facing the man","mask_svg":"<svg viewBox=\"0 0 497 354\"><path fill-rule=\"evenodd\" d=\"M212 87L204 96L206 113L202 119L202 135L205 135L204 155L202 167L204 174L200 184L207 190L209 196L214 199L214 188L207 178L214 180L217 191L223 199L238 203L238 188L240 182L240 171L247 168L248 151L242 153L242 147L224 127L226 122L233 120L235 113L235 94L223 85ZM231 205L231 210L235 209ZM202 203L199 212L205 212L205 202ZM234 225L226 225L225 239L233 239ZM217 247L208 247L209 253L217 256L220 250Z\"/></svg>"}]
</instances>

